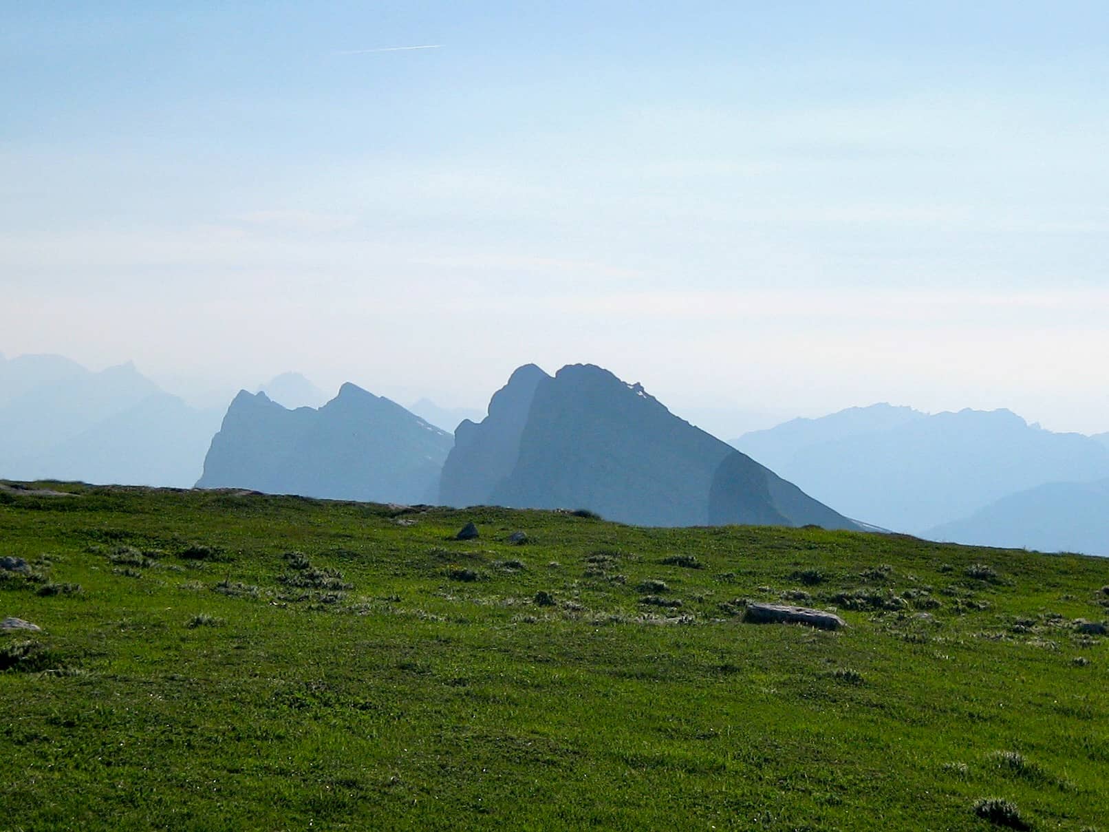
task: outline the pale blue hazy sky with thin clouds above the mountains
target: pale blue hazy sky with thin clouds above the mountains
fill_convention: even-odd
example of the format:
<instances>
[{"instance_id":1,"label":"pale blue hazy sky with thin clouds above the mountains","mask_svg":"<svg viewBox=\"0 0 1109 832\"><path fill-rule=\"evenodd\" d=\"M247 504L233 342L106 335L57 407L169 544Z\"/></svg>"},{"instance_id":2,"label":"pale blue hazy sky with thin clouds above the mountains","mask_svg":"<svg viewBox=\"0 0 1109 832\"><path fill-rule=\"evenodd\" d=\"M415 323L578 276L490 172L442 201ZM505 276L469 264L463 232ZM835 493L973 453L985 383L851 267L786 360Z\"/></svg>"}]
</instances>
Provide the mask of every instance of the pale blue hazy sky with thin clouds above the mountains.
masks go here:
<instances>
[{"instance_id":1,"label":"pale blue hazy sky with thin clouds above the mountains","mask_svg":"<svg viewBox=\"0 0 1109 832\"><path fill-rule=\"evenodd\" d=\"M1107 37L1103 0L7 3L0 352L1109 430Z\"/></svg>"}]
</instances>

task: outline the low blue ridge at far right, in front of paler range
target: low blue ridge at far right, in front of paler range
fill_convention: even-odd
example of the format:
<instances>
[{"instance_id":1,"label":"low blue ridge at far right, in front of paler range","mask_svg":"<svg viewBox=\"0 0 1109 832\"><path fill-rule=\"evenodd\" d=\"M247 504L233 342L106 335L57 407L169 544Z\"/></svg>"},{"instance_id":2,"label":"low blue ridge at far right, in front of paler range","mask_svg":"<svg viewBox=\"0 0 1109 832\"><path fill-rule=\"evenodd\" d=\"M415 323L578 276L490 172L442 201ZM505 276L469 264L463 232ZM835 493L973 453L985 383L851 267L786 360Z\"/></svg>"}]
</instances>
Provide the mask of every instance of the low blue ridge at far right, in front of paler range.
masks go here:
<instances>
[{"instance_id":1,"label":"low blue ridge at far right, in front of paler range","mask_svg":"<svg viewBox=\"0 0 1109 832\"><path fill-rule=\"evenodd\" d=\"M924 532L932 540L1109 556L1109 479L1048 483Z\"/></svg>"}]
</instances>

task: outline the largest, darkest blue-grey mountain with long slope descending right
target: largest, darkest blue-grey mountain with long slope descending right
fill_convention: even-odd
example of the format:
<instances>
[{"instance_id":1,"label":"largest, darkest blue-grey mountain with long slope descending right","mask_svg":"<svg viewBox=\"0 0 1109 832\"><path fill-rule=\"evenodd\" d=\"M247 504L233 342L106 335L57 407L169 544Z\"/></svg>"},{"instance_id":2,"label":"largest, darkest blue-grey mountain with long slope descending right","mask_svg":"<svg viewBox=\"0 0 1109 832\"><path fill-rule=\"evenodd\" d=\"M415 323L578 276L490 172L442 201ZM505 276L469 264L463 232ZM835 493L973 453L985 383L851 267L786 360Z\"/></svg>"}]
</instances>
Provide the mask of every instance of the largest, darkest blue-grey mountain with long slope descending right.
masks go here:
<instances>
[{"instance_id":1,"label":"largest, darkest blue-grey mountain with long slope descending right","mask_svg":"<svg viewBox=\"0 0 1109 832\"><path fill-rule=\"evenodd\" d=\"M440 498L588 508L644 526L856 524L593 365L517 369L480 424L464 422Z\"/></svg>"}]
</instances>

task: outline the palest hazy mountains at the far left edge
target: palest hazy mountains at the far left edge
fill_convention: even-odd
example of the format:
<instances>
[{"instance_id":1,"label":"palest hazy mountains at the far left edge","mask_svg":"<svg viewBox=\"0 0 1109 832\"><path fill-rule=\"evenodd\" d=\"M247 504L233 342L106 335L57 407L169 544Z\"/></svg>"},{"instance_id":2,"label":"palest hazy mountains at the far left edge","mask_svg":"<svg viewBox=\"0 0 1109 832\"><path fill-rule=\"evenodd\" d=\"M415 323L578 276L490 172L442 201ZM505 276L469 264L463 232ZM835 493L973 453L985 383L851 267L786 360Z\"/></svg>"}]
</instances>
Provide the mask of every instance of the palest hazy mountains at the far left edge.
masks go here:
<instances>
[{"instance_id":1,"label":"palest hazy mountains at the far left edge","mask_svg":"<svg viewBox=\"0 0 1109 832\"><path fill-rule=\"evenodd\" d=\"M92 373L57 355L0 358L0 476L191 486L220 424L132 364Z\"/></svg>"}]
</instances>

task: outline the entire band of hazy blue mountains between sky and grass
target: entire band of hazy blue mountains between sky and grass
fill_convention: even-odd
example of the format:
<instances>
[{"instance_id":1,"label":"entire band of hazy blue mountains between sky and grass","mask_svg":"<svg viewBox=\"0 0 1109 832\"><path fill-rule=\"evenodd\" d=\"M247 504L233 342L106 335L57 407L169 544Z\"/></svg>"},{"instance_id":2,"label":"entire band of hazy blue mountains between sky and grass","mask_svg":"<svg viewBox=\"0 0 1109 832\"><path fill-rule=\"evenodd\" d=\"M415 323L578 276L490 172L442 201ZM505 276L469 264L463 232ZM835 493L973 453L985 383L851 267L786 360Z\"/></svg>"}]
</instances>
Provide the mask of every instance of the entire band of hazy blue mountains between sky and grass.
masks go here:
<instances>
[{"instance_id":1,"label":"entire band of hazy blue mountains between sky and grass","mask_svg":"<svg viewBox=\"0 0 1109 832\"><path fill-rule=\"evenodd\" d=\"M130 363L0 355L0 477L588 508L650 526L874 524L1109 555L1109 433L1052 433L1008 410L853 407L729 446L592 365L522 366L484 416L426 398L414 413L353 384L325 399L283 373L224 415Z\"/></svg>"}]
</instances>

